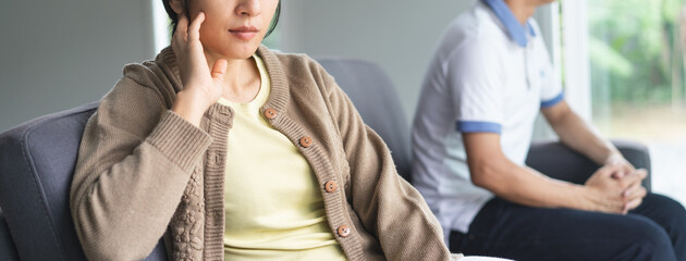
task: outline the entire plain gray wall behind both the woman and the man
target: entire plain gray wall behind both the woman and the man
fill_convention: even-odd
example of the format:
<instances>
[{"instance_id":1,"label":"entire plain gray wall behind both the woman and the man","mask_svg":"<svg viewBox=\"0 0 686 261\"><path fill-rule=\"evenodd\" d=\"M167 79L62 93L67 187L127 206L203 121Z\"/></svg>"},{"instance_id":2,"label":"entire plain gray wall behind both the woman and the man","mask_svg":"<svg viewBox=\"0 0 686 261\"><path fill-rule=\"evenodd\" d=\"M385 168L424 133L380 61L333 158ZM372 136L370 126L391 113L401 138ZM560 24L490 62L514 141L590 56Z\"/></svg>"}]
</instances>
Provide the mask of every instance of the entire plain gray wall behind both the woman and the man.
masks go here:
<instances>
[{"instance_id":1,"label":"entire plain gray wall behind both the woman and the man","mask_svg":"<svg viewBox=\"0 0 686 261\"><path fill-rule=\"evenodd\" d=\"M282 1L279 46L380 64L411 120L442 32L473 2ZM549 38L542 17L537 16ZM97 100L121 77L125 63L155 54L148 0L11 1L0 9L0 132Z\"/></svg>"}]
</instances>

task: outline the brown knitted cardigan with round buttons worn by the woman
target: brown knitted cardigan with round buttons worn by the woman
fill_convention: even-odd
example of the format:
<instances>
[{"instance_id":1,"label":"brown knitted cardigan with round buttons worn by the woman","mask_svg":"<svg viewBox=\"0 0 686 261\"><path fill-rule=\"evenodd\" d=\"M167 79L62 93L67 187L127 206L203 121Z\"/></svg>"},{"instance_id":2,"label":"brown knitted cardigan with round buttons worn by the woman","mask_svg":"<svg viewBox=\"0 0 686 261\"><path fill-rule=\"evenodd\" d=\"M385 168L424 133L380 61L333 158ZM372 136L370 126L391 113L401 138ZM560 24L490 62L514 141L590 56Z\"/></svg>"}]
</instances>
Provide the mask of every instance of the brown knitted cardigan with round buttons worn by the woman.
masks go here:
<instances>
[{"instance_id":1,"label":"brown knitted cardigan with round buttons worn by the woman","mask_svg":"<svg viewBox=\"0 0 686 261\"><path fill-rule=\"evenodd\" d=\"M266 47L257 53L272 86L260 111L275 111L267 121L313 167L346 257L448 260L436 217L396 174L390 151L333 77L306 55ZM223 259L223 191L232 186L223 175L233 111L213 104L195 127L169 110L182 88L167 48L155 61L126 65L88 121L70 199L88 259L139 260L163 235L173 260ZM302 146L303 137L311 146ZM327 191L329 181L339 188ZM350 236L339 234L342 225L351 227Z\"/></svg>"}]
</instances>

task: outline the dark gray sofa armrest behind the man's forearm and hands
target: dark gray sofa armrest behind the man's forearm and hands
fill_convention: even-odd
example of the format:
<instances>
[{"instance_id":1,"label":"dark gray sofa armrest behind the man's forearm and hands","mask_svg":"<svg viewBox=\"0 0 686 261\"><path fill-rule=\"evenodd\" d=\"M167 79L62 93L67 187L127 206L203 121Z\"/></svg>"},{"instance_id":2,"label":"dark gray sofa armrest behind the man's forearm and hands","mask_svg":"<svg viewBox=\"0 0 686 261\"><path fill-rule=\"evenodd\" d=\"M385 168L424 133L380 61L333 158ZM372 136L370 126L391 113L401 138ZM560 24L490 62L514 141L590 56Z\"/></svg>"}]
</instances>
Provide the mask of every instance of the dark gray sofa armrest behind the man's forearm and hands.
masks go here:
<instances>
[{"instance_id":1,"label":"dark gray sofa armrest behind the man's forearm and hands","mask_svg":"<svg viewBox=\"0 0 686 261\"><path fill-rule=\"evenodd\" d=\"M642 185L650 190L650 153L648 147L630 140L612 140L612 144L634 166L648 171L648 177L644 179ZM532 142L526 164L550 177L576 184L584 184L600 167L588 158L559 141Z\"/></svg>"}]
</instances>

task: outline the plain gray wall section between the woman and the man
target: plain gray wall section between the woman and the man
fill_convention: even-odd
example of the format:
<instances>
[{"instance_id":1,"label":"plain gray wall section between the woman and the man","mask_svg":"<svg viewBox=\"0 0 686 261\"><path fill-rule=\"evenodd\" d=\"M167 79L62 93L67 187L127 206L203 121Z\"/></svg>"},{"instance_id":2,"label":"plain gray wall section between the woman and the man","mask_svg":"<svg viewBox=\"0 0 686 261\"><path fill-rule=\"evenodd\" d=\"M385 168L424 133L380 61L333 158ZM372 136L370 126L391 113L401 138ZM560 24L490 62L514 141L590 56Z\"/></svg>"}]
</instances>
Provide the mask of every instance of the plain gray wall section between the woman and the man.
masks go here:
<instances>
[{"instance_id":1,"label":"plain gray wall section between the woman and the man","mask_svg":"<svg viewBox=\"0 0 686 261\"><path fill-rule=\"evenodd\" d=\"M311 57L376 62L389 73L405 114L412 119L424 74L441 34L471 2L282 1L280 49Z\"/></svg>"}]
</instances>

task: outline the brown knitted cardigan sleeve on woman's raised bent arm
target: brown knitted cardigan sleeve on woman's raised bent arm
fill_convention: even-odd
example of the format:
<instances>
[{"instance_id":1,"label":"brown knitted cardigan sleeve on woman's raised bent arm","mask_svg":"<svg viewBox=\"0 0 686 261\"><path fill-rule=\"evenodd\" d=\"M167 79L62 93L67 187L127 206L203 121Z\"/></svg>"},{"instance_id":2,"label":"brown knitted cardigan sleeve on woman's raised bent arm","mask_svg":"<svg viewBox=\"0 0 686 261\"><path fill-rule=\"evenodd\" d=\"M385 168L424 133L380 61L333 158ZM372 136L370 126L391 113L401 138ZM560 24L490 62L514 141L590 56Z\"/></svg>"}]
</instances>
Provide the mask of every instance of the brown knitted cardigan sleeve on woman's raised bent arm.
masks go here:
<instances>
[{"instance_id":1,"label":"brown knitted cardigan sleeve on woman's raised bent arm","mask_svg":"<svg viewBox=\"0 0 686 261\"><path fill-rule=\"evenodd\" d=\"M89 260L140 260L167 231L211 138L124 77L86 124L70 204Z\"/></svg>"}]
</instances>

